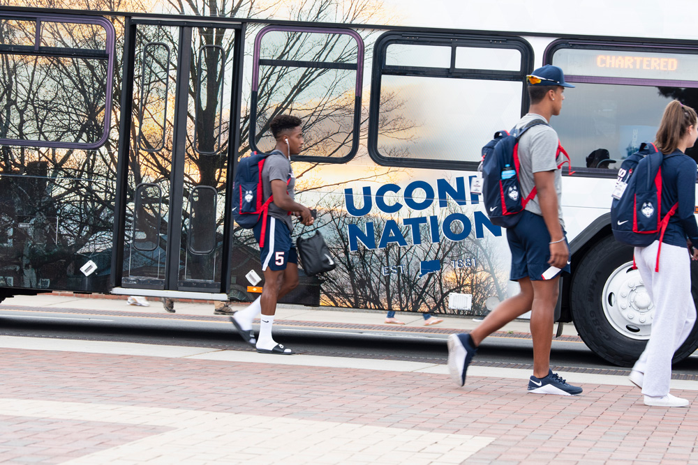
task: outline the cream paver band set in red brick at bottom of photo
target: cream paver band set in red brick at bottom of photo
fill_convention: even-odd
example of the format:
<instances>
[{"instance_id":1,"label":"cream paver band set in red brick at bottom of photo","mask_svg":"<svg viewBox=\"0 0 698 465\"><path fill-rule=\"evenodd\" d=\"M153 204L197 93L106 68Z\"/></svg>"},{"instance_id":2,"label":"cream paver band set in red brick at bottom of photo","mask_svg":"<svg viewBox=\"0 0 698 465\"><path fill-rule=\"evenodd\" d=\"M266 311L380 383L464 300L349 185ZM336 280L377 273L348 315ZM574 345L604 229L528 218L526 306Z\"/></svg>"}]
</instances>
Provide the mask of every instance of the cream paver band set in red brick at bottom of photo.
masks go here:
<instances>
[{"instance_id":1,"label":"cream paver band set in red brick at bottom of photo","mask_svg":"<svg viewBox=\"0 0 698 465\"><path fill-rule=\"evenodd\" d=\"M457 464L494 440L488 436L287 417L45 400L0 399L0 415L171 428L64 462L68 464L133 459L159 463L237 462L243 456L254 463L399 464L409 460L415 464ZM272 454L270 444L274 445Z\"/></svg>"}]
</instances>

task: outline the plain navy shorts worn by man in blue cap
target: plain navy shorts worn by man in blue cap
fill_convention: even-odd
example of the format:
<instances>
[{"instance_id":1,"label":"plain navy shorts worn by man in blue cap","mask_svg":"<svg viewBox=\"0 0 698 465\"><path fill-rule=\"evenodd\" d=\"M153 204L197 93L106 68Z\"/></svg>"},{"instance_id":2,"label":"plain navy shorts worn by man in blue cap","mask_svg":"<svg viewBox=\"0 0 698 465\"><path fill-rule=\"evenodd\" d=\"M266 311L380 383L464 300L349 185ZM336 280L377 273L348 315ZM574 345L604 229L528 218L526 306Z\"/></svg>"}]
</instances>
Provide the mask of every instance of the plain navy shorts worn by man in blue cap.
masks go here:
<instances>
[{"instance_id":1,"label":"plain navy shorts worn by man in blue cap","mask_svg":"<svg viewBox=\"0 0 698 465\"><path fill-rule=\"evenodd\" d=\"M563 231L564 233L565 231ZM513 228L507 229L507 241L512 251L512 272L509 279L518 281L523 277L530 277L531 281L542 281L559 275L543 274L550 265L550 234L545 226L545 220L541 215L530 213L528 210L521 212L521 220ZM565 238L567 243L567 238ZM570 247L567 244L567 247ZM570 273L568 263L563 271Z\"/></svg>"}]
</instances>

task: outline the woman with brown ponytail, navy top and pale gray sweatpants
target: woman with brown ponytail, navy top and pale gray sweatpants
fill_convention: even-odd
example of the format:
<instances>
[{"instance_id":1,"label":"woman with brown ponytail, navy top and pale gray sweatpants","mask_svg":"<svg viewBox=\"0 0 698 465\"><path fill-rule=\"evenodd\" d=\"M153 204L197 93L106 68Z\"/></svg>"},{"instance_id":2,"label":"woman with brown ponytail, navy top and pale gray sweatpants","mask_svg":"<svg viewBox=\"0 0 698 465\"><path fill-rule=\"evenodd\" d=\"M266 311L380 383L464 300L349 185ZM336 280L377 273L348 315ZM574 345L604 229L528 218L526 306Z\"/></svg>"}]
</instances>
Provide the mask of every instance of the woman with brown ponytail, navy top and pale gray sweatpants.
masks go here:
<instances>
[{"instance_id":1,"label":"woman with brown ponytail, navy top and pale gray sweatpants","mask_svg":"<svg viewBox=\"0 0 698 465\"><path fill-rule=\"evenodd\" d=\"M645 405L685 407L688 400L669 394L671 358L686 340L696 320L691 295L690 259L698 259L698 224L695 219L696 162L685 155L698 137L694 109L678 100L664 109L655 146L662 161L662 212L678 203L662 238L647 247L635 247L640 276L654 303L652 334L644 352L632 367L630 381L642 389ZM686 247L688 245L688 252Z\"/></svg>"}]
</instances>

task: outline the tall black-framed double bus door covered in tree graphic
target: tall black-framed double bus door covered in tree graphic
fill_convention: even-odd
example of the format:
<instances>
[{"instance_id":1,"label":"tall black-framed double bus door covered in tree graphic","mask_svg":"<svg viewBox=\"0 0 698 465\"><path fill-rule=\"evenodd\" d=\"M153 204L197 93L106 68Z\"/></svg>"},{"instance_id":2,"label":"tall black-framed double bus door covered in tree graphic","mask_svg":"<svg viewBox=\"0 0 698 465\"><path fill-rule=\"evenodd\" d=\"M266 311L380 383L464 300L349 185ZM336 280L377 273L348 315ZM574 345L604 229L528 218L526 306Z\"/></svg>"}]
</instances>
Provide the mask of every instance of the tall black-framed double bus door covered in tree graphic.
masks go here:
<instances>
[{"instance_id":1,"label":"tall black-framed double bus door covered in tree graphic","mask_svg":"<svg viewBox=\"0 0 698 465\"><path fill-rule=\"evenodd\" d=\"M244 27L131 19L125 35L112 292L225 298Z\"/></svg>"}]
</instances>

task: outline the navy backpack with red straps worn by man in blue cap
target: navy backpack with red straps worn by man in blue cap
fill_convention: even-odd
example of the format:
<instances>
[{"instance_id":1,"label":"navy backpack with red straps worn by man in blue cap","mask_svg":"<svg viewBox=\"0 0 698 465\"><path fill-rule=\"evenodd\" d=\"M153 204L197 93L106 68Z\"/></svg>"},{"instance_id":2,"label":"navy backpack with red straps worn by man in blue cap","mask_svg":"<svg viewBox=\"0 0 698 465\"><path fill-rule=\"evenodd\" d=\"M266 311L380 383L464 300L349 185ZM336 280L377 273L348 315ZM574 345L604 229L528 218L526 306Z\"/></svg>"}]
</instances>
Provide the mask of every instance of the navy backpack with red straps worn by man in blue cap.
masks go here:
<instances>
[{"instance_id":1,"label":"navy backpack with red straps worn by man in blue cap","mask_svg":"<svg viewBox=\"0 0 698 465\"><path fill-rule=\"evenodd\" d=\"M544 124L542 119L531 121L517 132L516 128L511 132L498 131L494 138L482 147L482 196L489 220L496 226L511 228L521 219L523 208L537 193L535 186L526 198L522 197L521 183L519 183L519 139L533 126ZM570 156L558 143L557 155L562 152L570 163Z\"/></svg>"}]
</instances>

